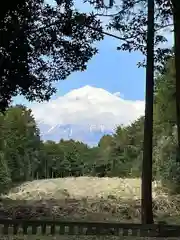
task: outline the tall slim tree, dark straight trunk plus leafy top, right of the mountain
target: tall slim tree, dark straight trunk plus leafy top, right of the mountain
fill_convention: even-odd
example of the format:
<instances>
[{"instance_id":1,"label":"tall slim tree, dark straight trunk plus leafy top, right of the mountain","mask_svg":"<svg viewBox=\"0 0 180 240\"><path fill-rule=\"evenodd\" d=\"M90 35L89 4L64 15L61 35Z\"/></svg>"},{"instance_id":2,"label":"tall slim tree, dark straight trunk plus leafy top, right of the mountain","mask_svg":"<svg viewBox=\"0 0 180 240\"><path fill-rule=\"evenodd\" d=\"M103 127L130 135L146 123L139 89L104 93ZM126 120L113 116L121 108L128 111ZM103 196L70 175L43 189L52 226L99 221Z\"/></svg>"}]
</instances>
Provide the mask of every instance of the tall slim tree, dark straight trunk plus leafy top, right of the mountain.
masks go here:
<instances>
[{"instance_id":1,"label":"tall slim tree, dark straight trunk plus leafy top, right of the mountain","mask_svg":"<svg viewBox=\"0 0 180 240\"><path fill-rule=\"evenodd\" d=\"M165 42L166 38L162 34L157 33L157 31L169 25L170 13L172 11L169 12L170 5L166 4L166 0L156 1L156 12L154 11L154 0L122 0L121 3L118 3L118 6L119 12L110 15L112 19L108 25L108 28L120 32L120 39L123 43L118 49L128 50L129 52L139 50L147 57L146 62L139 63L139 66L146 66L146 103L142 163L142 222L152 223L154 63L156 63L157 69L162 69L164 60L169 57L168 54L170 52L168 48L162 49L159 47L159 44ZM148 9L148 14L146 9ZM162 21L159 22L159 19Z\"/></svg>"}]
</instances>

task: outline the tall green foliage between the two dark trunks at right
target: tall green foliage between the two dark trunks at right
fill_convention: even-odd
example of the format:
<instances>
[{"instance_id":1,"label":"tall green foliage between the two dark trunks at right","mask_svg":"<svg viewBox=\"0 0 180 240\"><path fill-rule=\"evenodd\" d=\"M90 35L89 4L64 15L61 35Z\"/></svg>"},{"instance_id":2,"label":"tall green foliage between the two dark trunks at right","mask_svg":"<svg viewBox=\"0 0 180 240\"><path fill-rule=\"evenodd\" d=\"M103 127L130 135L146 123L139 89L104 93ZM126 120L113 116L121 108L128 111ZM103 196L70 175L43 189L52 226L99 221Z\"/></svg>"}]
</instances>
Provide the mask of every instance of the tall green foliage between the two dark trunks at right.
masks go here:
<instances>
[{"instance_id":1,"label":"tall green foliage between the two dark trunks at right","mask_svg":"<svg viewBox=\"0 0 180 240\"><path fill-rule=\"evenodd\" d=\"M171 192L180 192L180 159L177 152L175 66L171 59L156 79L154 111L154 176Z\"/></svg>"}]
</instances>

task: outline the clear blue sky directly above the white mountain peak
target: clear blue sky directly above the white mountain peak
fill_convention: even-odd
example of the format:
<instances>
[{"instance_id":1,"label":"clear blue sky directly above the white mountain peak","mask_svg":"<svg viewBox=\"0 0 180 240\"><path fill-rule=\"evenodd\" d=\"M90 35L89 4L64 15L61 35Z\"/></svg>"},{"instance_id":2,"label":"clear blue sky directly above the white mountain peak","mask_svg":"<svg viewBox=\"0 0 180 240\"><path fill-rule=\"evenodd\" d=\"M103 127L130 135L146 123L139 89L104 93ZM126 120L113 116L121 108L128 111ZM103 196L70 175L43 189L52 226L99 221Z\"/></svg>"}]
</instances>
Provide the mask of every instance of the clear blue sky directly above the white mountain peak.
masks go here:
<instances>
[{"instance_id":1,"label":"clear blue sky directly above the white mountain peak","mask_svg":"<svg viewBox=\"0 0 180 240\"><path fill-rule=\"evenodd\" d=\"M89 6L80 5L80 0L76 2L76 6L83 11L91 11ZM109 36L98 42L96 45L99 53L88 62L87 70L73 73L65 81L56 83L57 93L52 96L52 99L74 88L90 85L104 88L109 92L120 92L125 99L143 100L145 69L139 69L136 65L143 56L138 52L117 51L118 44L117 39ZM14 99L14 103L29 105L23 97L19 96Z\"/></svg>"}]
</instances>

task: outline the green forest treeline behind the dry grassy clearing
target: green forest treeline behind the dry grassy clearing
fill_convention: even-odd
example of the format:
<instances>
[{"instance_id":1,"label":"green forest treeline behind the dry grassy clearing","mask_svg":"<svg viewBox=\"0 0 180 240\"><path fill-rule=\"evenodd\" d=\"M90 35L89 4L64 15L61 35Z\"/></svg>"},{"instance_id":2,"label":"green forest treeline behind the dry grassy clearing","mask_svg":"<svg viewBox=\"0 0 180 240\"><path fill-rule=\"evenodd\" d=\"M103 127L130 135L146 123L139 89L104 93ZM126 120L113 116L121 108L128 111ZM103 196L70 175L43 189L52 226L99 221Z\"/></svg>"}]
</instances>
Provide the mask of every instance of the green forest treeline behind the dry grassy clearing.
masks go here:
<instances>
[{"instance_id":1,"label":"green forest treeline behind the dry grassy clearing","mask_svg":"<svg viewBox=\"0 0 180 240\"><path fill-rule=\"evenodd\" d=\"M68 176L140 177L144 117L118 126L96 147L74 141L43 142L31 110L10 107L0 116L0 190L14 183ZM176 161L175 70L171 59L155 79L153 177L179 191Z\"/></svg>"}]
</instances>

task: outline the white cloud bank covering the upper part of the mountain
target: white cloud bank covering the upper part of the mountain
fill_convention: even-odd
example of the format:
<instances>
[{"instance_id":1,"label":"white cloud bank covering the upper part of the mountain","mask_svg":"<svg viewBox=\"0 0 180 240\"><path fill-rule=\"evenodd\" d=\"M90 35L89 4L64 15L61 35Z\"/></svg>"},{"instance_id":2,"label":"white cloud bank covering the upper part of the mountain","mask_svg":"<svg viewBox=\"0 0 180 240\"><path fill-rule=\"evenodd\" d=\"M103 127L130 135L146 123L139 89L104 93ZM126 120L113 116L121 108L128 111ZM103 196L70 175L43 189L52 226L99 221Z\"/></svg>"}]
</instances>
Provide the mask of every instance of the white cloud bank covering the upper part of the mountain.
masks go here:
<instances>
[{"instance_id":1,"label":"white cloud bank covering the upper part of the mountain","mask_svg":"<svg viewBox=\"0 0 180 240\"><path fill-rule=\"evenodd\" d=\"M39 123L55 126L80 126L81 129L112 131L144 114L144 101L131 101L104 89L85 86L46 103L31 105Z\"/></svg>"}]
</instances>

